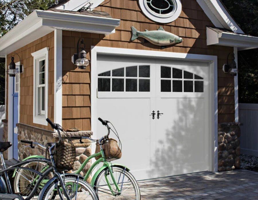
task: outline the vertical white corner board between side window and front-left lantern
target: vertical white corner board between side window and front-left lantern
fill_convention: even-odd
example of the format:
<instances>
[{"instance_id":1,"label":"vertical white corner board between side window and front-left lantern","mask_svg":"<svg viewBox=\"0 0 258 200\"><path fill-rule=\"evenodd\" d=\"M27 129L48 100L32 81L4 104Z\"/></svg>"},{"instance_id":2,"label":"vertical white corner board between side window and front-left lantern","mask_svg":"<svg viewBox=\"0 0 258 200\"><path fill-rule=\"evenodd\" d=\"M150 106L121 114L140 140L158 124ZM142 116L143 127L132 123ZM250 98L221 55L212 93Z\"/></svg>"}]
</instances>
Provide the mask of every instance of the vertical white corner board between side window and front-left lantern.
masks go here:
<instances>
[{"instance_id":1,"label":"vertical white corner board between side window and front-left lantern","mask_svg":"<svg viewBox=\"0 0 258 200\"><path fill-rule=\"evenodd\" d=\"M54 30L54 123L62 126L62 30Z\"/></svg>"}]
</instances>

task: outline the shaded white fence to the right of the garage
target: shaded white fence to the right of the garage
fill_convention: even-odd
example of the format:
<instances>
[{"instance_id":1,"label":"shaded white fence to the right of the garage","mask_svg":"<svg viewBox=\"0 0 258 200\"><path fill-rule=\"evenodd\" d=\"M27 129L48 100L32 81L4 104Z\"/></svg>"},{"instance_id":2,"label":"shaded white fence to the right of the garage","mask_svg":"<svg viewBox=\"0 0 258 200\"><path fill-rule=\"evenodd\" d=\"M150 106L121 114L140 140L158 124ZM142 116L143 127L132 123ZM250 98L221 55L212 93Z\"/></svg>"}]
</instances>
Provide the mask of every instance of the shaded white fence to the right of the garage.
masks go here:
<instances>
[{"instance_id":1,"label":"shaded white fence to the right of the garage","mask_svg":"<svg viewBox=\"0 0 258 200\"><path fill-rule=\"evenodd\" d=\"M258 156L258 104L239 103L241 153Z\"/></svg>"}]
</instances>

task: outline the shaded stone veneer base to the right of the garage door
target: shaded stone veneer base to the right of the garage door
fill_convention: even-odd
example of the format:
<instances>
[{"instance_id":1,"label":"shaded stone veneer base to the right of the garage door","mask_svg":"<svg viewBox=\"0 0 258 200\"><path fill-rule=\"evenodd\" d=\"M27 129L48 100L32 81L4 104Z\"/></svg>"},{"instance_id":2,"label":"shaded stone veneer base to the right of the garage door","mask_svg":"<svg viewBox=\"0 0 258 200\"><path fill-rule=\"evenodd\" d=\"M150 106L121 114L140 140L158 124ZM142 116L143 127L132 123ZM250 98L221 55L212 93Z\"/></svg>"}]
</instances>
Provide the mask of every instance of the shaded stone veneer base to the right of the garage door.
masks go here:
<instances>
[{"instance_id":1,"label":"shaded stone veneer base to the right of the garage door","mask_svg":"<svg viewBox=\"0 0 258 200\"><path fill-rule=\"evenodd\" d=\"M218 171L240 167L240 123L218 125Z\"/></svg>"}]
</instances>

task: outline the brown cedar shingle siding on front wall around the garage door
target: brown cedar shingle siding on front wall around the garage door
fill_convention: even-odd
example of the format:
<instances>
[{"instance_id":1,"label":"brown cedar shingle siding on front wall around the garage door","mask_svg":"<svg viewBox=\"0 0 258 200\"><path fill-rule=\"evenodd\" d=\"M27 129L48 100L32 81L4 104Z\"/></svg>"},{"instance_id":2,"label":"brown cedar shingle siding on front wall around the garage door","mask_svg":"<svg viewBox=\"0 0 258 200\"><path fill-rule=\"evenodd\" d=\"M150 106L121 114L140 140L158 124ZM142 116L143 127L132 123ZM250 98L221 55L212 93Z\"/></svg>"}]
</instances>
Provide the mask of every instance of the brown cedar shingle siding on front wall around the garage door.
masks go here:
<instances>
[{"instance_id":1,"label":"brown cedar shingle siding on front wall around the garage door","mask_svg":"<svg viewBox=\"0 0 258 200\"><path fill-rule=\"evenodd\" d=\"M64 128L78 127L91 130L90 124L90 67L78 69L71 62L76 53L77 41L84 39L87 58L90 59L91 46L144 49L152 51L169 51L216 55L218 57L218 123L234 121L234 77L222 71L227 62L227 55L233 47L207 46L206 26L214 26L196 0L181 0L182 12L179 18L168 24L159 24L149 20L140 10L136 0L106 0L96 11L109 13L113 18L121 19L116 33L105 36L93 33L62 31L62 125ZM131 42L131 26L139 31L156 30L162 26L183 38L183 42L165 49L152 45L139 38Z\"/></svg>"}]
</instances>

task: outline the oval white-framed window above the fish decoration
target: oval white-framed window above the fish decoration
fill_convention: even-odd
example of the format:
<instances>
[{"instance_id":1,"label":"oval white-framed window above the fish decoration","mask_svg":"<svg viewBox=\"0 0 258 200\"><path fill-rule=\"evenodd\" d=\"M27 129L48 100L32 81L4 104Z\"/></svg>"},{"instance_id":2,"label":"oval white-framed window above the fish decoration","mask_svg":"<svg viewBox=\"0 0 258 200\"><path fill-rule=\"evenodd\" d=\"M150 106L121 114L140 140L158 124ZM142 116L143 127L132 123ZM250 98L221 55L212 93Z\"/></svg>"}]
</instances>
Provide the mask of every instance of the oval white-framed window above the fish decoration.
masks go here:
<instances>
[{"instance_id":1,"label":"oval white-framed window above the fish decoration","mask_svg":"<svg viewBox=\"0 0 258 200\"><path fill-rule=\"evenodd\" d=\"M149 19L159 23L175 21L181 11L180 0L138 0L142 12Z\"/></svg>"}]
</instances>

